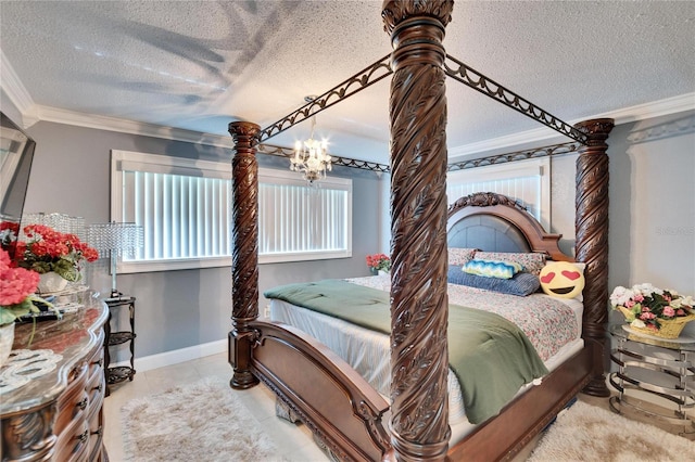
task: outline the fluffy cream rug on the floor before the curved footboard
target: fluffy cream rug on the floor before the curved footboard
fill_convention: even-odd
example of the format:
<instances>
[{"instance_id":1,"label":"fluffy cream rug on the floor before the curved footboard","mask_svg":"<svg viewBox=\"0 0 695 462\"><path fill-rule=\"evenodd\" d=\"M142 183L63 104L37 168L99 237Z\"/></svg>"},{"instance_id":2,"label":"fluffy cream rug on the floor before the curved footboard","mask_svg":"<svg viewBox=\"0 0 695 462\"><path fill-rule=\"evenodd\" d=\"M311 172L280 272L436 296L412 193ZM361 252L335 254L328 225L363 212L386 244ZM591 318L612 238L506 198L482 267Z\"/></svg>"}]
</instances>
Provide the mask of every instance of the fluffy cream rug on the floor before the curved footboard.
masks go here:
<instances>
[{"instance_id":1,"label":"fluffy cream rug on the floor before the curved footboard","mask_svg":"<svg viewBox=\"0 0 695 462\"><path fill-rule=\"evenodd\" d=\"M128 461L280 461L277 448L222 378L203 378L121 409Z\"/></svg>"}]
</instances>

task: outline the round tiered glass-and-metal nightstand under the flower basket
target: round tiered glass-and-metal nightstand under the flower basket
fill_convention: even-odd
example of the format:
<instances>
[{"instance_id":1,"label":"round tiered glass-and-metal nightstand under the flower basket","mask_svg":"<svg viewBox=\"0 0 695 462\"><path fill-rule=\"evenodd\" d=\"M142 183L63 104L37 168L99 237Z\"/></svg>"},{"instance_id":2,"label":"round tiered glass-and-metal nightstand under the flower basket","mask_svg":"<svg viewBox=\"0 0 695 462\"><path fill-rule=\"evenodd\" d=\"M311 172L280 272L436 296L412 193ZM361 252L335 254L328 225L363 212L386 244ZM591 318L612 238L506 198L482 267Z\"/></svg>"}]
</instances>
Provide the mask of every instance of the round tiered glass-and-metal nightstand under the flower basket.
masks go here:
<instances>
[{"instance_id":1,"label":"round tiered glass-and-metal nightstand under the flower basket","mask_svg":"<svg viewBox=\"0 0 695 462\"><path fill-rule=\"evenodd\" d=\"M618 372L612 372L609 381L619 392L610 398L610 408L620 413L622 406L629 406L668 423L682 424L688 428L687 433L695 432L692 413L695 407L695 338L666 339L636 334L627 324L612 325L609 332L617 341L610 359L618 365ZM652 407L646 409L642 400L629 396L628 390L658 396L675 406L665 412Z\"/></svg>"}]
</instances>

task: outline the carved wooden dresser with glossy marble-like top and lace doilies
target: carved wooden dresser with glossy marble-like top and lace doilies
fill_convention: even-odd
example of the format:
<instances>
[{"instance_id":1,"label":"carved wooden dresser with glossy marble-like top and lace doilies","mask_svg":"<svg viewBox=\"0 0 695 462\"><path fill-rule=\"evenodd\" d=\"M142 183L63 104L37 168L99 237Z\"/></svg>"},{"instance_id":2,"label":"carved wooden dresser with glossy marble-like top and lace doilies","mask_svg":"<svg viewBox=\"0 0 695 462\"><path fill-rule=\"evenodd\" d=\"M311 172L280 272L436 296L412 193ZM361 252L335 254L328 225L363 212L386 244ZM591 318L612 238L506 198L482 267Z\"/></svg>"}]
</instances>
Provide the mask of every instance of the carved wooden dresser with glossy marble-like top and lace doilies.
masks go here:
<instances>
[{"instance_id":1,"label":"carved wooden dresser with glossy marble-like top and lace doilies","mask_svg":"<svg viewBox=\"0 0 695 462\"><path fill-rule=\"evenodd\" d=\"M108 460L102 407L109 311L90 291L67 297L79 308L61 320L38 322L30 347L31 324L16 325L13 350L29 349L27 356L52 350L60 358L50 356L54 369L0 395L2 462ZM31 373L30 365L25 370Z\"/></svg>"}]
</instances>

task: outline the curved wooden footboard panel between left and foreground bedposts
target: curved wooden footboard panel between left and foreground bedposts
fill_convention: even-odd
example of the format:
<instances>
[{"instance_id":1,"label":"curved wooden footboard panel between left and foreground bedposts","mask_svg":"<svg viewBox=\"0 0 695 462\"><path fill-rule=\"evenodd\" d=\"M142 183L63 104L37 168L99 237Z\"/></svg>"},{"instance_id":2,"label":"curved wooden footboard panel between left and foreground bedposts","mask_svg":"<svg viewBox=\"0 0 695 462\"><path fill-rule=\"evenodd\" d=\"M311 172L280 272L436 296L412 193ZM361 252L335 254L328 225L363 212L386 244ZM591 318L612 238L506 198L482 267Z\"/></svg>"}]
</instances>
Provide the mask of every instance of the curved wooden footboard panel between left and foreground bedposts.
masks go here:
<instances>
[{"instance_id":1,"label":"curved wooden footboard panel between left and foreground bedposts","mask_svg":"<svg viewBox=\"0 0 695 462\"><path fill-rule=\"evenodd\" d=\"M338 460L393 457L389 403L324 344L279 322L253 321L251 369Z\"/></svg>"}]
</instances>

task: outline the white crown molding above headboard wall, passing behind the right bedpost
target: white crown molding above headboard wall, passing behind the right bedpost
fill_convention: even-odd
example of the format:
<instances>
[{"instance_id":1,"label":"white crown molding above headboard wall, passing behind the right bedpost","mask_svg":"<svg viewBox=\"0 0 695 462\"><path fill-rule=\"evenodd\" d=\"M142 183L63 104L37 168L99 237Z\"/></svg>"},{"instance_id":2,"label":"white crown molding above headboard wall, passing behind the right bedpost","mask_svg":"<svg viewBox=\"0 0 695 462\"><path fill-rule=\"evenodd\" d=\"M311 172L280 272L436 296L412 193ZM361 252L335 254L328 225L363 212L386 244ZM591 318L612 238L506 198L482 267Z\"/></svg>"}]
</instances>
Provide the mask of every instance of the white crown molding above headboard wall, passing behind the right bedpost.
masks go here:
<instances>
[{"instance_id":1,"label":"white crown molding above headboard wall, passing behind the right bedpost","mask_svg":"<svg viewBox=\"0 0 695 462\"><path fill-rule=\"evenodd\" d=\"M695 110L695 93L685 93L679 97L667 98L650 103L637 104L622 110L596 114L591 117L570 121L569 124L574 125L582 120L594 118L612 118L616 121L616 125L620 125L693 110ZM463 157L471 154L480 154L486 151L504 150L526 143L551 143L564 138L565 137L561 134L548 128L534 128L532 130L495 138L493 140L483 140L477 143L452 147L448 150L448 157Z\"/></svg>"}]
</instances>

